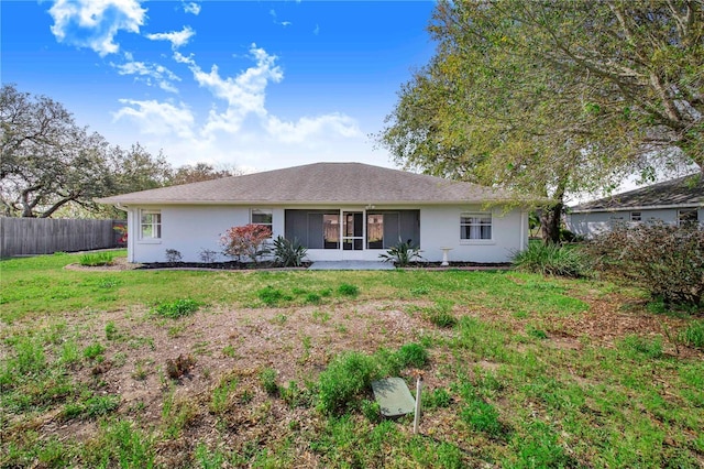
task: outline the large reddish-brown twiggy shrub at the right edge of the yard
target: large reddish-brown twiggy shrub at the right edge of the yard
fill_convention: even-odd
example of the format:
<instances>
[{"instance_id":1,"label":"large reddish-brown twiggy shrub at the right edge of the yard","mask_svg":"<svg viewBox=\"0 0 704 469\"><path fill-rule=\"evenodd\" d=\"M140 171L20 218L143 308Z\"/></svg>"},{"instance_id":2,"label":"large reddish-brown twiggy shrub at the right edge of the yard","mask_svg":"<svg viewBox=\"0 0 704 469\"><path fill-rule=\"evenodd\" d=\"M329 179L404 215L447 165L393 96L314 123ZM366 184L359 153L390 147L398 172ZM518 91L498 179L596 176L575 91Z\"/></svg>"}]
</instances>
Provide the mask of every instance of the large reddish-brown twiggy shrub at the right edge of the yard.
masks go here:
<instances>
[{"instance_id":1,"label":"large reddish-brown twiggy shrub at the right edge of the yard","mask_svg":"<svg viewBox=\"0 0 704 469\"><path fill-rule=\"evenodd\" d=\"M590 251L600 270L641 286L668 307L703 304L704 230L696 225L617 226Z\"/></svg>"}]
</instances>

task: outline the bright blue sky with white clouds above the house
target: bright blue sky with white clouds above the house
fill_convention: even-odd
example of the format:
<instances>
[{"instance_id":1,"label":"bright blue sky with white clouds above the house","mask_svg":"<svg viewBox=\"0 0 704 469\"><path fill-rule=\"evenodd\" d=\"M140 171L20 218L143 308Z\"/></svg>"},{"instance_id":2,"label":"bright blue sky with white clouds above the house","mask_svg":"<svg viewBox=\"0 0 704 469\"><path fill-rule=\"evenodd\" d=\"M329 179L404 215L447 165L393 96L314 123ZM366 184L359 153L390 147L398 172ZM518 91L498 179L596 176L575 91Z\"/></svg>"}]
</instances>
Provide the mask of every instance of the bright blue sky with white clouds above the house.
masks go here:
<instances>
[{"instance_id":1,"label":"bright blue sky with white clouds above the house","mask_svg":"<svg viewBox=\"0 0 704 469\"><path fill-rule=\"evenodd\" d=\"M430 1L6 1L3 84L112 144L263 171L393 167L371 133L432 56Z\"/></svg>"}]
</instances>

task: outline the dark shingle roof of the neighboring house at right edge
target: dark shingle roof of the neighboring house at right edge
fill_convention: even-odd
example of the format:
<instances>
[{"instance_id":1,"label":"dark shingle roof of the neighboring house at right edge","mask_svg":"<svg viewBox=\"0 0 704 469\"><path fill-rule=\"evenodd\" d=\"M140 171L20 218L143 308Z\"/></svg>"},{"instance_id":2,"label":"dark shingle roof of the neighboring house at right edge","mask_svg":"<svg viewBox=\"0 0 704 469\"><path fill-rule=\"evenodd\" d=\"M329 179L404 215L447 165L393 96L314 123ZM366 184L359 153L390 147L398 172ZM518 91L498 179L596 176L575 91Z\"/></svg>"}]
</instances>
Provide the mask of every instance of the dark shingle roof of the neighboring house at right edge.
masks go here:
<instances>
[{"instance_id":1,"label":"dark shingle roof of the neighboring house at right edge","mask_svg":"<svg viewBox=\"0 0 704 469\"><path fill-rule=\"evenodd\" d=\"M704 176L690 174L572 207L573 212L704 205Z\"/></svg>"}]
</instances>

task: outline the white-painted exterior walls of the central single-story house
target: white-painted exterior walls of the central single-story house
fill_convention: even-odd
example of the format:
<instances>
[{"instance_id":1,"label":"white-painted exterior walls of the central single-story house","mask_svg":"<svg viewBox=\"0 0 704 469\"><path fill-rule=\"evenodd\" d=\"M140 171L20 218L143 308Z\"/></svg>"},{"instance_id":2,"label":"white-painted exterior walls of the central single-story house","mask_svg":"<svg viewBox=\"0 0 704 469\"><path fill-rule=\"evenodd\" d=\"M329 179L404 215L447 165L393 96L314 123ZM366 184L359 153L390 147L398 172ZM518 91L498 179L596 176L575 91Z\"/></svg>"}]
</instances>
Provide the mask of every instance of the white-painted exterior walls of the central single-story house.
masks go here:
<instances>
[{"instance_id":1,"label":"white-painted exterior walls of the central single-story house","mask_svg":"<svg viewBox=\"0 0 704 469\"><path fill-rule=\"evenodd\" d=\"M218 260L229 260L221 254L220 236L228 228L250 222L251 208L271 208L273 210L274 238L284 236L284 207L258 206L170 206L170 207L130 207L128 210L129 237L128 260L130 262L165 262L166 250L175 249L184 262L201 262L200 253L211 250L219 253ZM301 208L301 207L296 207ZM321 207L305 207L321 208ZM329 206L326 208L330 208ZM364 207L336 207L344 210L360 210ZM162 238L140 240L141 209L158 209L162 214ZM519 209L504 212L501 208L482 209L480 206L377 206L380 209L419 209L420 248L424 260L442 260L441 248L452 248L449 260L452 262L507 262L517 251L528 244L528 217ZM464 212L492 211L492 240L466 241L460 239L460 217ZM385 250L308 250L308 260L369 260L378 261Z\"/></svg>"}]
</instances>

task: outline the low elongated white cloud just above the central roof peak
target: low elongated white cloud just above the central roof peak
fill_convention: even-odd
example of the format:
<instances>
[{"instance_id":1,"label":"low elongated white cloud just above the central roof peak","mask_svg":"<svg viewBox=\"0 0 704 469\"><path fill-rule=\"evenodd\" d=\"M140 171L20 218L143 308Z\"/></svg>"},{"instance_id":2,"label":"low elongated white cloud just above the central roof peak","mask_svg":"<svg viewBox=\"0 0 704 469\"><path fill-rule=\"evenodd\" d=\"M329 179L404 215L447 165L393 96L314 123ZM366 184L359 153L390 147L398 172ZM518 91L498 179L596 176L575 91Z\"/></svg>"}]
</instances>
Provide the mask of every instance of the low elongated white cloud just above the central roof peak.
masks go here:
<instances>
[{"instance_id":1,"label":"low elongated white cloud just above the central roof peak","mask_svg":"<svg viewBox=\"0 0 704 469\"><path fill-rule=\"evenodd\" d=\"M337 134L344 138L358 138L363 133L356 121L349 116L331 113L315 118L302 117L297 122L285 122L271 116L266 120L266 131L276 140L285 143L304 143L314 138Z\"/></svg>"}]
</instances>

